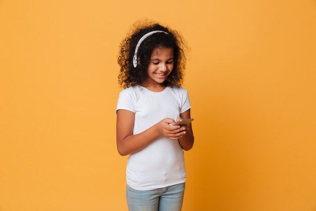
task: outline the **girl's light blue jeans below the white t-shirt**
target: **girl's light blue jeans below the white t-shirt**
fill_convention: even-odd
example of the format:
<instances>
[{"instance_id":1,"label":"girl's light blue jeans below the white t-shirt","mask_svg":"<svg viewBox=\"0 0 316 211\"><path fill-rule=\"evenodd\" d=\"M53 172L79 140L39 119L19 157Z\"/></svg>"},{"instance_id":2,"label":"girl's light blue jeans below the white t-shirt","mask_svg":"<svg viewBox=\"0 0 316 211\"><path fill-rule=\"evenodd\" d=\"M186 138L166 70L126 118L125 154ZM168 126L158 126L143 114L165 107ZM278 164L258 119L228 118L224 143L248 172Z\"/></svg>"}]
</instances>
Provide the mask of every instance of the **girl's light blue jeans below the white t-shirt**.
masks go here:
<instances>
[{"instance_id":1,"label":"girl's light blue jeans below the white t-shirt","mask_svg":"<svg viewBox=\"0 0 316 211\"><path fill-rule=\"evenodd\" d=\"M185 183L154 190L135 190L126 186L129 211L180 211Z\"/></svg>"}]
</instances>

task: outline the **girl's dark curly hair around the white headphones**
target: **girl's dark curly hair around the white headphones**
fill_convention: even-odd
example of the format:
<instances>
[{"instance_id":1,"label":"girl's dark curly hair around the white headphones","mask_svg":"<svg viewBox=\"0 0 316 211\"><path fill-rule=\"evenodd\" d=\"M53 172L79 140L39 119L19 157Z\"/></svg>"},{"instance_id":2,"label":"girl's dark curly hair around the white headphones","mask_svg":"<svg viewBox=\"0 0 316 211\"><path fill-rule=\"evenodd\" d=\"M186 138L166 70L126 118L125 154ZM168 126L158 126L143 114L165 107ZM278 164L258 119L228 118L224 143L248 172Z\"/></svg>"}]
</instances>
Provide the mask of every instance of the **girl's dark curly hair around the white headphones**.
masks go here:
<instances>
[{"instance_id":1,"label":"girl's dark curly hair around the white headphones","mask_svg":"<svg viewBox=\"0 0 316 211\"><path fill-rule=\"evenodd\" d=\"M143 40L137 56L139 62L137 67L133 66L133 56L138 40L150 31L165 31L166 33L154 33ZM186 63L185 51L187 46L181 34L177 31L160 25L159 23L136 22L134 29L127 35L120 44L118 64L121 67L119 73L119 84L127 88L135 85L142 85L148 78L147 69L150 62L151 52L156 48L173 48L174 66L171 73L166 78L165 86L180 86L184 76Z\"/></svg>"}]
</instances>

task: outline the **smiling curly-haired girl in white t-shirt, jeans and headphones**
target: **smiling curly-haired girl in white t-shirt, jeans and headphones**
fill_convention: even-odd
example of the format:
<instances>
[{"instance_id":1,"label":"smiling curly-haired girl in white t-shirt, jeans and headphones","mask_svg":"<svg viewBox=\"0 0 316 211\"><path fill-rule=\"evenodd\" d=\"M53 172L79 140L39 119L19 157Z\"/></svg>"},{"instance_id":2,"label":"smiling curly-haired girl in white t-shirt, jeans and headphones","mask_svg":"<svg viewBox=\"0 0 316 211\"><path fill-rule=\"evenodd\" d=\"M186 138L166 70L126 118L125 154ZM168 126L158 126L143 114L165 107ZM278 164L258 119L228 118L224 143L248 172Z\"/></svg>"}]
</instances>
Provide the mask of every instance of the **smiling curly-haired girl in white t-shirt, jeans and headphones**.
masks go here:
<instances>
[{"instance_id":1,"label":"smiling curly-haired girl in white t-shirt, jeans and headphones","mask_svg":"<svg viewBox=\"0 0 316 211\"><path fill-rule=\"evenodd\" d=\"M185 56L179 33L142 24L121 43L121 91L117 104L117 148L129 155L126 199L130 211L181 210L186 171L183 149L193 146L190 100L181 88Z\"/></svg>"}]
</instances>

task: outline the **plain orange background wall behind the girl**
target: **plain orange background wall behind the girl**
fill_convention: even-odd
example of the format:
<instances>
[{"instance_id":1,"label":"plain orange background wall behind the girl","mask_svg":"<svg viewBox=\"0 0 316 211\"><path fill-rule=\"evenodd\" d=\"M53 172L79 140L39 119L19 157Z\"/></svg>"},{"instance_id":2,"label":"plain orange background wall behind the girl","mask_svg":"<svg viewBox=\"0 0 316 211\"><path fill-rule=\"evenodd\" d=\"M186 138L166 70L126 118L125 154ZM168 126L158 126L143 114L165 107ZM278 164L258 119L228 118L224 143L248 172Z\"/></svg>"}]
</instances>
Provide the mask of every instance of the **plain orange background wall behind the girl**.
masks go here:
<instances>
[{"instance_id":1,"label":"plain orange background wall behind the girl","mask_svg":"<svg viewBox=\"0 0 316 211\"><path fill-rule=\"evenodd\" d=\"M183 211L315 211L314 0L2 0L0 210L127 210L116 60L142 18L191 48Z\"/></svg>"}]
</instances>

